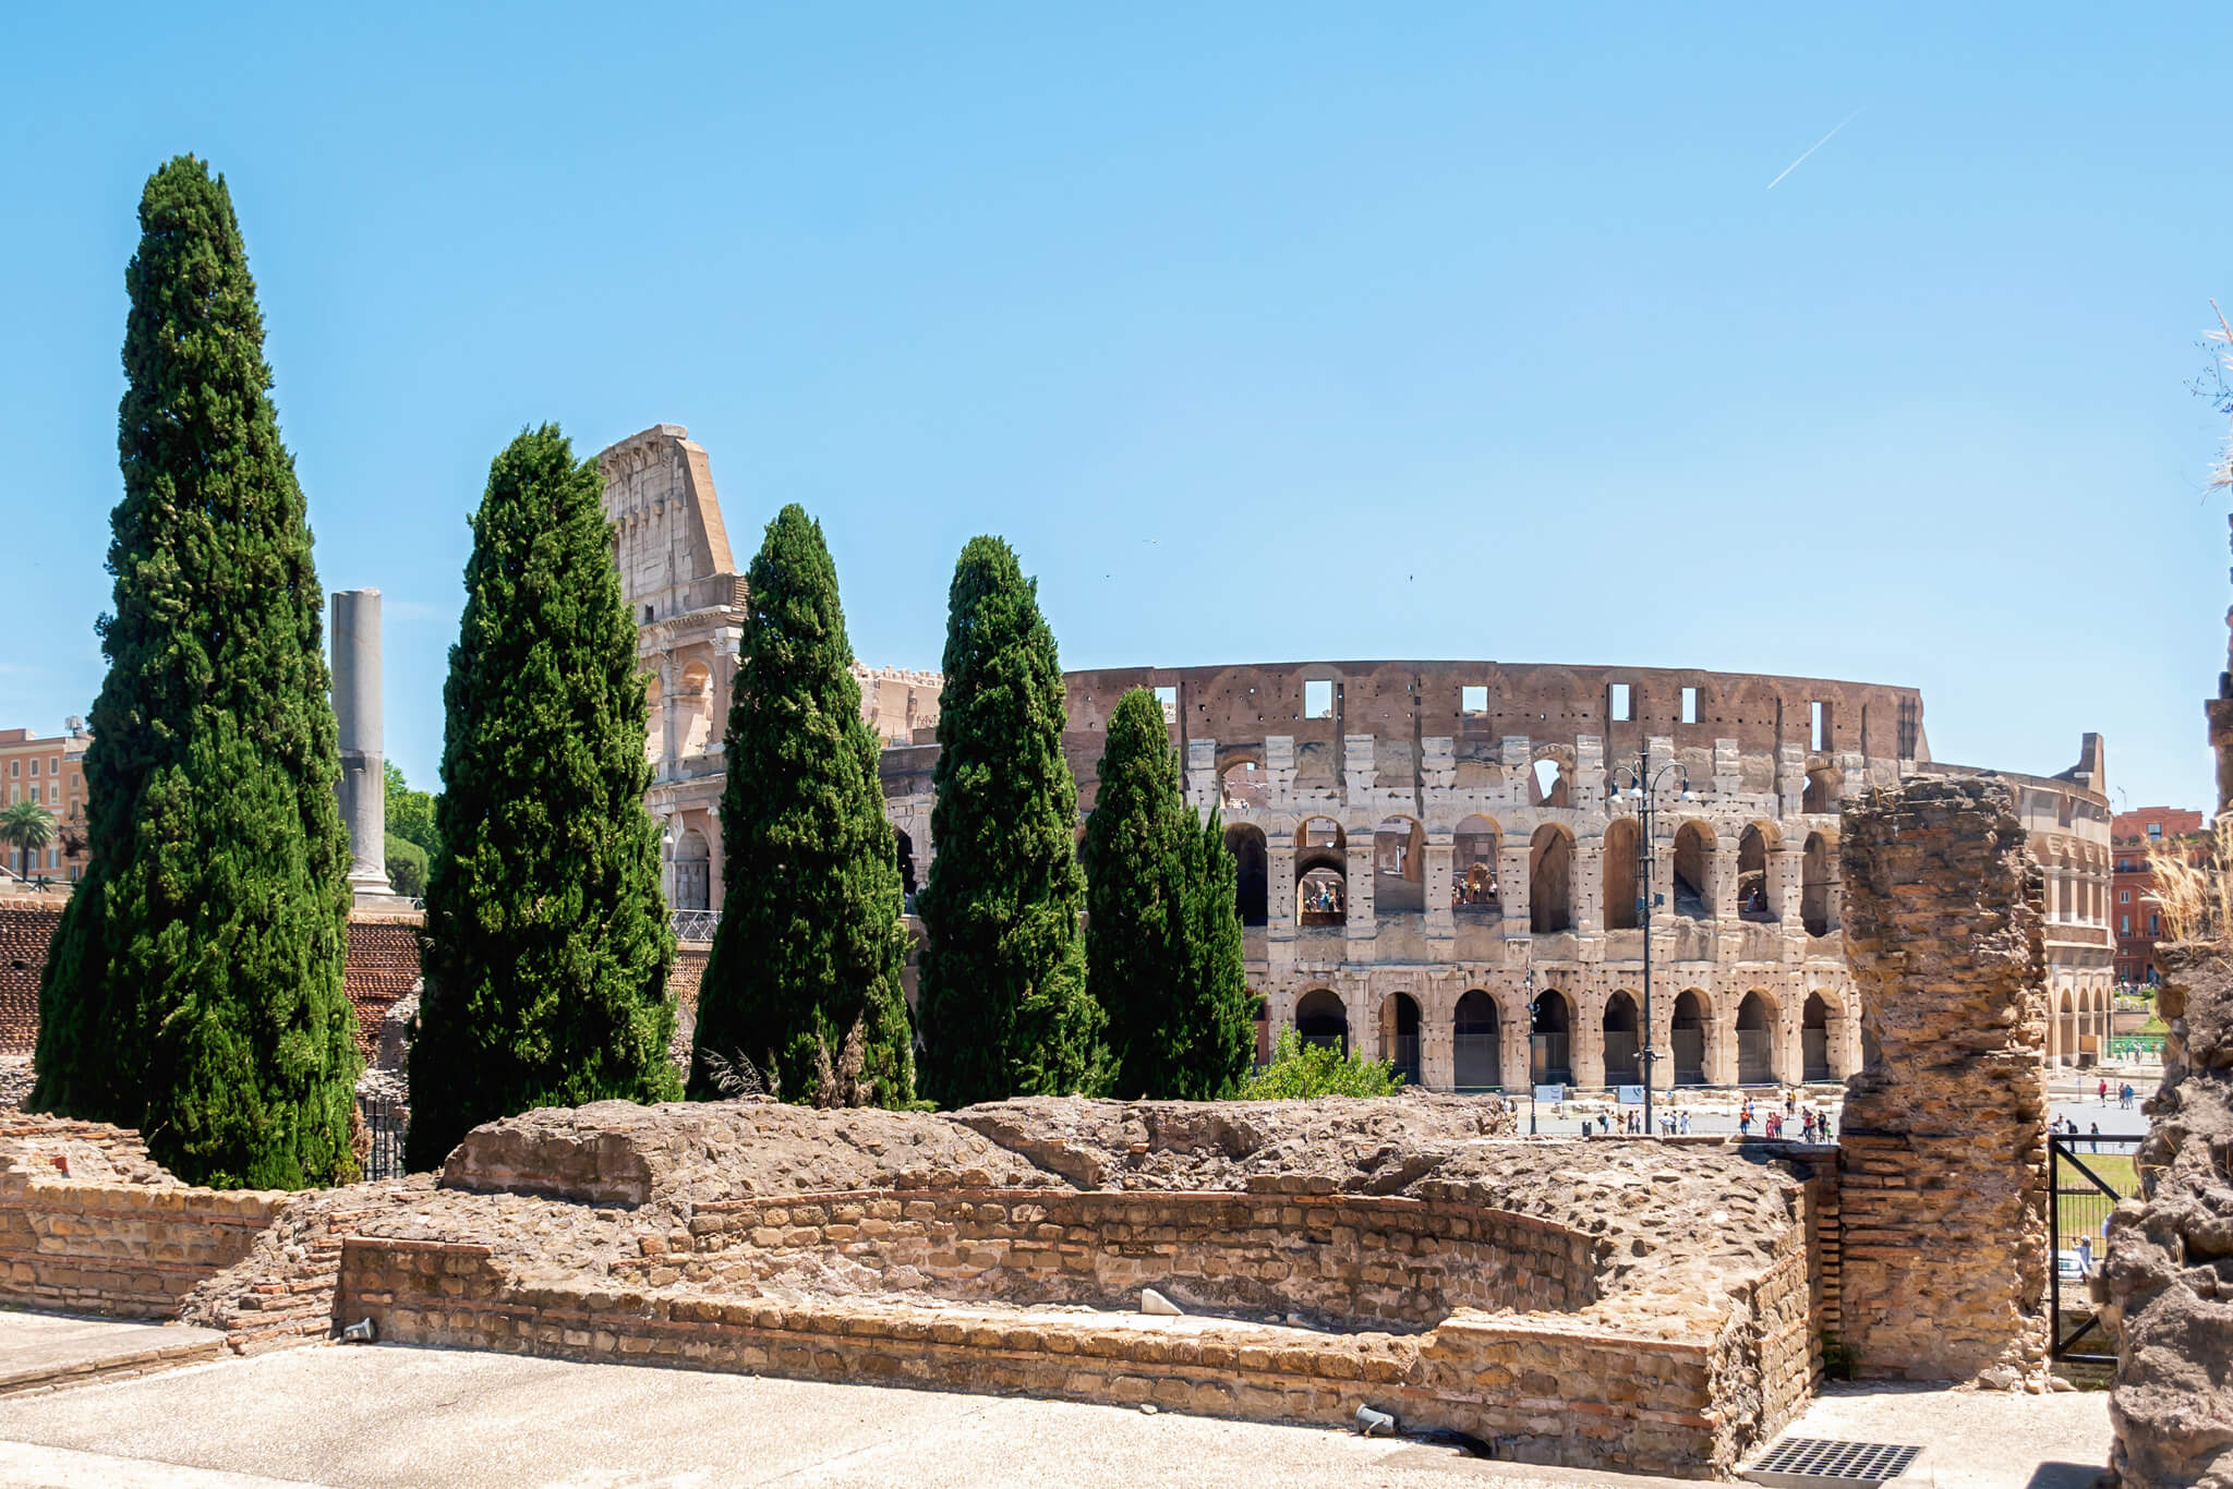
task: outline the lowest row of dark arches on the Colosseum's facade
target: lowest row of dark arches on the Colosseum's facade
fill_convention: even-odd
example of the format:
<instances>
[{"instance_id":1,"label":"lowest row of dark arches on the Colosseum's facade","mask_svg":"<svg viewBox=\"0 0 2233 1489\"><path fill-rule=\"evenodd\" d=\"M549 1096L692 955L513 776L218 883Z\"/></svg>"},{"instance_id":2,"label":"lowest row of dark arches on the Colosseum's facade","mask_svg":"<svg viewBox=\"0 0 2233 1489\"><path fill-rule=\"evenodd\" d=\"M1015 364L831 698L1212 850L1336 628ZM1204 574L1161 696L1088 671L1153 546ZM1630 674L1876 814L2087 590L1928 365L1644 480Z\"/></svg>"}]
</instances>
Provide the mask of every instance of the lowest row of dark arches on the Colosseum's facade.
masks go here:
<instances>
[{"instance_id":1,"label":"lowest row of dark arches on the Colosseum's facade","mask_svg":"<svg viewBox=\"0 0 2233 1489\"><path fill-rule=\"evenodd\" d=\"M1668 1051L1661 1056L1670 1076L1661 1085L1777 1085L1793 1080L1838 1080L1851 1069L1851 1056L1838 1049L1836 1027L1844 1020L1842 1002L1822 991L1806 993L1798 1020L1798 1047L1786 1047L1777 1002L1762 989L1735 1000L1728 1027L1719 1027L1713 1000L1702 989L1675 996L1668 1020ZM1360 1040L1371 1058L1391 1060L1411 1085L1427 1083L1422 1049L1422 1014L1411 993L1389 993L1378 1009L1373 1038ZM1510 1029L1510 1034L1507 1034ZM1349 1005L1331 987L1306 991L1295 1002L1295 1034L1304 1045L1351 1051ZM1641 1014L1635 993L1619 989L1606 998L1597 1027L1581 1029L1576 1002L1545 989L1514 1011L1483 989L1458 996L1449 1018L1447 1083L1458 1092L1503 1089L1525 1078L1527 1085L1576 1085L1579 1040L1594 1036L1597 1056L1590 1074L1601 1085L1641 1085L1643 1045ZM1525 1065L1507 1065L1507 1038L1525 1038ZM1726 1040L1726 1045L1724 1045ZM1726 1054L1724 1054L1726 1051ZM1518 1049L1512 1051L1518 1056ZM1726 1069L1717 1069L1726 1065ZM1438 1085L1443 1085L1438 1083Z\"/></svg>"}]
</instances>

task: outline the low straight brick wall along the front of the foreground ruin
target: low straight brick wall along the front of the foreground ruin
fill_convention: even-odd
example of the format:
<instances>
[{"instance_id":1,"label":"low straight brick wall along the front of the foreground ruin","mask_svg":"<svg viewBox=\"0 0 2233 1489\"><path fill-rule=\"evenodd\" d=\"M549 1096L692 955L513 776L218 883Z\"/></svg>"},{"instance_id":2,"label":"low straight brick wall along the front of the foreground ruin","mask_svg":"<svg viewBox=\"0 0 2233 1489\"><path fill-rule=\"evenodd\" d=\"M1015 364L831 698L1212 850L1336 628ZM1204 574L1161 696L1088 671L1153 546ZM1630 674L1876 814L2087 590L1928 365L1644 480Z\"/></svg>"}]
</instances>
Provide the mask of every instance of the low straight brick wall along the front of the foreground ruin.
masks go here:
<instances>
[{"instance_id":1,"label":"low straight brick wall along the front of the foreground ruin","mask_svg":"<svg viewBox=\"0 0 2233 1489\"><path fill-rule=\"evenodd\" d=\"M1806 1275L1795 1250L1769 1275L1777 1279L1784 1308L1798 1299L1795 1333L1804 1335ZM1242 1420L1333 1426L1373 1404L1409 1426L1465 1431L1507 1458L1684 1478L1726 1476L1764 1429L1764 1397L1789 1395L1764 1380L1789 1351L1764 1351L1751 1328L1699 1339L1572 1315L1485 1313L1405 1335L1230 1319L1143 1328L1000 1304L516 1284L489 1246L418 1239L351 1237L335 1317L371 1317L382 1339L400 1344L1152 1402ZM1740 1386L1748 1411L1717 1397Z\"/></svg>"}]
</instances>

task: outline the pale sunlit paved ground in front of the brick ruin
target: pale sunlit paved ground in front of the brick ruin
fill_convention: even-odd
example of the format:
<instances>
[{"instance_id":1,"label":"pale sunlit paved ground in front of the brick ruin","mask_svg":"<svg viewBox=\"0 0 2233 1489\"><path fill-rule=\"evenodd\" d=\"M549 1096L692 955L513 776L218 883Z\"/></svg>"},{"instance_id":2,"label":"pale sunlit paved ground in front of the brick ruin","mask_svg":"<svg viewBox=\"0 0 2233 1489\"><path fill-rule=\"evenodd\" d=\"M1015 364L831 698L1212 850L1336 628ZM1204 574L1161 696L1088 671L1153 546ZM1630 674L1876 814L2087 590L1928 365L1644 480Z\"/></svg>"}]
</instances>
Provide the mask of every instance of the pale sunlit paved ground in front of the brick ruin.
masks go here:
<instances>
[{"instance_id":1,"label":"pale sunlit paved ground in front of the brick ruin","mask_svg":"<svg viewBox=\"0 0 2233 1489\"><path fill-rule=\"evenodd\" d=\"M20 1317L20 1315L13 1315ZM0 1351L11 1315L0 1315ZM2101 1395L1853 1389L1802 1435L1925 1442L1911 1482L2079 1489ZM397 1346L315 1346L0 1400L7 1489L741 1489L1666 1485L1340 1431Z\"/></svg>"}]
</instances>

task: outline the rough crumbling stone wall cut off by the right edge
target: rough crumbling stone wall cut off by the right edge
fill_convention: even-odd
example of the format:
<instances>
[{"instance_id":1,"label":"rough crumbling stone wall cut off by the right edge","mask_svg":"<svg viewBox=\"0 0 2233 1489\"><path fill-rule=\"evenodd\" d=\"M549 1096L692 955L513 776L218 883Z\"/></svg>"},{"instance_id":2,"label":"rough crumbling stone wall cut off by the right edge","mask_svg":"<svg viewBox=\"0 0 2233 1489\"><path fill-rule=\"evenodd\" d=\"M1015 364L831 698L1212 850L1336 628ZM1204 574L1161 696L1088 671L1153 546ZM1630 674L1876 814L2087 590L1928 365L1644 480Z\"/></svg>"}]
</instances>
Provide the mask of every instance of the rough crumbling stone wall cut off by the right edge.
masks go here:
<instances>
[{"instance_id":1,"label":"rough crumbling stone wall cut off by the right edge","mask_svg":"<svg viewBox=\"0 0 2233 1489\"><path fill-rule=\"evenodd\" d=\"M2233 960L2162 944L2157 964L2164 1085L2103 1264L2112 1467L2126 1489L2217 1487L2233 1485Z\"/></svg>"}]
</instances>

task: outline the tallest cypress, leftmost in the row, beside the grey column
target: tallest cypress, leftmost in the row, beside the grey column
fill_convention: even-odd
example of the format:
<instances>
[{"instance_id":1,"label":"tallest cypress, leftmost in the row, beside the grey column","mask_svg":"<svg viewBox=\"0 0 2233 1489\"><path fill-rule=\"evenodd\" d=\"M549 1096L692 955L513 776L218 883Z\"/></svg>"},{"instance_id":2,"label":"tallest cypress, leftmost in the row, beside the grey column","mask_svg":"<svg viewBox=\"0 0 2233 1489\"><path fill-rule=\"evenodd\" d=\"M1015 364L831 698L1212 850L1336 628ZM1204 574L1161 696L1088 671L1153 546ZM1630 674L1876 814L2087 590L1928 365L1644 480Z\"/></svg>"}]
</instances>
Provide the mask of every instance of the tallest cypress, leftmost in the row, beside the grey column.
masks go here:
<instances>
[{"instance_id":1,"label":"tallest cypress, leftmost in the row, beside the grey column","mask_svg":"<svg viewBox=\"0 0 2233 1489\"><path fill-rule=\"evenodd\" d=\"M31 1105L138 1127L197 1183L339 1183L360 1058L324 594L223 176L147 179L125 286L92 864L47 951Z\"/></svg>"}]
</instances>

